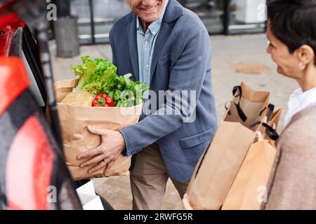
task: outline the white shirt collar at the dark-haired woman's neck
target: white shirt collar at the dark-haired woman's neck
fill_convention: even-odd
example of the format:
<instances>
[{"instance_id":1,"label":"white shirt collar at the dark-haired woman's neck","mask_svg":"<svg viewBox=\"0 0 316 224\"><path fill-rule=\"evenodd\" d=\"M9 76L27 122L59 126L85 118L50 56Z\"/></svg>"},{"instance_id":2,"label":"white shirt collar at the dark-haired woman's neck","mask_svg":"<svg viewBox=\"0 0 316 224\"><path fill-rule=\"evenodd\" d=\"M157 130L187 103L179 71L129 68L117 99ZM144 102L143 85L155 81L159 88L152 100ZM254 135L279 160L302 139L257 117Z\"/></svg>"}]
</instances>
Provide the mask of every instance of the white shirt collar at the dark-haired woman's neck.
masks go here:
<instances>
[{"instance_id":1,"label":"white shirt collar at the dark-haired woman's neck","mask_svg":"<svg viewBox=\"0 0 316 224\"><path fill-rule=\"evenodd\" d=\"M307 108L311 104L316 103L316 87L303 92L301 88L295 90L291 96L289 97L288 111L285 116L284 123L287 125L291 118L302 111L303 109Z\"/></svg>"}]
</instances>

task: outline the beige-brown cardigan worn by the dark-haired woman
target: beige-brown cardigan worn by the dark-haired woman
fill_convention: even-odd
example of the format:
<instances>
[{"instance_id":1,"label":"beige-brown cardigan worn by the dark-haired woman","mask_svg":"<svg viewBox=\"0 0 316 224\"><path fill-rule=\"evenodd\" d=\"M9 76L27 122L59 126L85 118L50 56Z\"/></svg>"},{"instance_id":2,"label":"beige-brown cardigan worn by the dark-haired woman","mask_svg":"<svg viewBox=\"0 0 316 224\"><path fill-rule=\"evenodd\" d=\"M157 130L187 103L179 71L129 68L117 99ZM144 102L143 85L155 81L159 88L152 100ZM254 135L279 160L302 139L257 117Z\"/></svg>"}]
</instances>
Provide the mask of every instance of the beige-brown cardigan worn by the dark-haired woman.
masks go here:
<instances>
[{"instance_id":1,"label":"beige-brown cardigan worn by the dark-haired woman","mask_svg":"<svg viewBox=\"0 0 316 224\"><path fill-rule=\"evenodd\" d=\"M277 150L265 209L316 209L316 104L296 113Z\"/></svg>"}]
</instances>

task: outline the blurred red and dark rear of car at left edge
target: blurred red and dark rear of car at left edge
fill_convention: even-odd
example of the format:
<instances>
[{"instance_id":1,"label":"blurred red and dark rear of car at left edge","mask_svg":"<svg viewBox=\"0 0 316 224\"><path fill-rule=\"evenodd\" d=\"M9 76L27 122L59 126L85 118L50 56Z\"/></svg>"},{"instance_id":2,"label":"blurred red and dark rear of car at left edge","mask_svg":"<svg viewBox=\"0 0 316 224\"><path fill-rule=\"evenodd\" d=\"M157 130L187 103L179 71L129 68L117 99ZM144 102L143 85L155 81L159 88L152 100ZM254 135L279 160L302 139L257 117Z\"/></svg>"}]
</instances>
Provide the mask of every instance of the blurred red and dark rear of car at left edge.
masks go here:
<instances>
[{"instance_id":1,"label":"blurred red and dark rear of car at left edge","mask_svg":"<svg viewBox=\"0 0 316 224\"><path fill-rule=\"evenodd\" d=\"M9 10L15 2L0 1L0 210L80 210L75 189L86 181L72 181L53 129L58 120L46 119L54 96L48 97L39 41Z\"/></svg>"}]
</instances>

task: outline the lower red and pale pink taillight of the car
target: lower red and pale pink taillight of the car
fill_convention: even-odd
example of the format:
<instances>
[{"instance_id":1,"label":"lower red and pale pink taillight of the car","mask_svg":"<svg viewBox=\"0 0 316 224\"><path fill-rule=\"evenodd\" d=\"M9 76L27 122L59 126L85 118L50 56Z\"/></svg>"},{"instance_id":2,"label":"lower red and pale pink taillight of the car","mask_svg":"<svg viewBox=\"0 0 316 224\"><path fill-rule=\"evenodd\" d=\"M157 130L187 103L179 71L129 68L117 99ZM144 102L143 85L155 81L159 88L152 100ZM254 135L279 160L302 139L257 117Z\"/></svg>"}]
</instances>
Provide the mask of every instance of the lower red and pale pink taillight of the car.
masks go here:
<instances>
[{"instance_id":1,"label":"lower red and pale pink taillight of the car","mask_svg":"<svg viewBox=\"0 0 316 224\"><path fill-rule=\"evenodd\" d=\"M48 187L53 162L53 149L41 123L37 117L29 117L13 139L8 153L6 192L9 209L50 209Z\"/></svg>"}]
</instances>

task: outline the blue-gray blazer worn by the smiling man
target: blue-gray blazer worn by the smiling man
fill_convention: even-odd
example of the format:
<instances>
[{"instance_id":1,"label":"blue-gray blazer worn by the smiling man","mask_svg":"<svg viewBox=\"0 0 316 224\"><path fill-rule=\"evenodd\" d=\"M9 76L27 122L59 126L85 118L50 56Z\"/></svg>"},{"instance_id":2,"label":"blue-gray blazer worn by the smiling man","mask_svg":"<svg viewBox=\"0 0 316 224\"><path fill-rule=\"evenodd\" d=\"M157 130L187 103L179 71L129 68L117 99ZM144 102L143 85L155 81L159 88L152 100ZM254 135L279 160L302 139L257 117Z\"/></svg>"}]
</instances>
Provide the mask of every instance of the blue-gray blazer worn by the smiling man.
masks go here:
<instances>
[{"instance_id":1,"label":"blue-gray blazer worn by the smiling man","mask_svg":"<svg viewBox=\"0 0 316 224\"><path fill-rule=\"evenodd\" d=\"M157 96L159 90L195 90L195 100L187 103L195 107L196 118L187 123L193 113L186 113L174 102L167 104L167 97L165 104L158 105L157 97L156 113L120 130L126 143L123 154L134 155L156 142L169 176L185 182L190 180L218 127L211 89L209 34L195 13L183 8L178 1L170 0L158 35L152 58L150 90ZM139 80L135 13L114 23L110 45L117 73L132 73L133 80ZM180 113L159 114L167 109Z\"/></svg>"}]
</instances>

